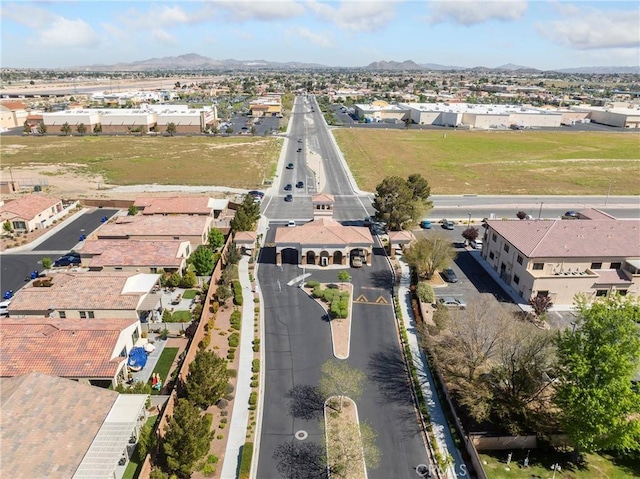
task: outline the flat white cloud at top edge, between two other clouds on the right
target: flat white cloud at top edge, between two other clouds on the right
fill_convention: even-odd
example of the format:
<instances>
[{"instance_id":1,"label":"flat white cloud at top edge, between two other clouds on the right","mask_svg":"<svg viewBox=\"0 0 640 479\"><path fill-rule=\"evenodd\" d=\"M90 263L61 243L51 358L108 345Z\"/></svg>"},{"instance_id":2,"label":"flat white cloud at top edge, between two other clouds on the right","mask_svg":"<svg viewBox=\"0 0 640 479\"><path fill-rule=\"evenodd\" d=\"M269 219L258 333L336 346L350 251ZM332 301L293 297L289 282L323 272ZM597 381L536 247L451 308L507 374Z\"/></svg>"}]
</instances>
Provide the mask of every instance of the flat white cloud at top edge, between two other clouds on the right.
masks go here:
<instances>
[{"instance_id":1,"label":"flat white cloud at top edge, between two other clouds on the right","mask_svg":"<svg viewBox=\"0 0 640 479\"><path fill-rule=\"evenodd\" d=\"M455 0L429 4L431 23L450 21L461 25L475 25L490 20L511 21L522 18L527 11L526 0Z\"/></svg>"}]
</instances>

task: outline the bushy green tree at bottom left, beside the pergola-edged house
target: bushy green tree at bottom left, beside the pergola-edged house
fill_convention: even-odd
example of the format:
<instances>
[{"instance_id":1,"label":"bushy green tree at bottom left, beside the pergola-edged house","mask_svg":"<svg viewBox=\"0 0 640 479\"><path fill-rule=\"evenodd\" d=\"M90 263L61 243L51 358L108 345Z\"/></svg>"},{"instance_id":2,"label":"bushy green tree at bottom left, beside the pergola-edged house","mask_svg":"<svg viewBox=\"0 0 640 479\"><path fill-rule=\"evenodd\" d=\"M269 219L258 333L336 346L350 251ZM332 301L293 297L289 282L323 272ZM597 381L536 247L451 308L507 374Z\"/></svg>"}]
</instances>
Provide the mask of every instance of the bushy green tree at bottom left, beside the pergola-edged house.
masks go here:
<instances>
[{"instance_id":1,"label":"bushy green tree at bottom left, beside the pergola-edged house","mask_svg":"<svg viewBox=\"0 0 640 479\"><path fill-rule=\"evenodd\" d=\"M200 409L187 399L178 399L173 416L165 426L162 450L170 472L188 478L196 464L209 452L213 439L211 416L202 416Z\"/></svg>"}]
</instances>

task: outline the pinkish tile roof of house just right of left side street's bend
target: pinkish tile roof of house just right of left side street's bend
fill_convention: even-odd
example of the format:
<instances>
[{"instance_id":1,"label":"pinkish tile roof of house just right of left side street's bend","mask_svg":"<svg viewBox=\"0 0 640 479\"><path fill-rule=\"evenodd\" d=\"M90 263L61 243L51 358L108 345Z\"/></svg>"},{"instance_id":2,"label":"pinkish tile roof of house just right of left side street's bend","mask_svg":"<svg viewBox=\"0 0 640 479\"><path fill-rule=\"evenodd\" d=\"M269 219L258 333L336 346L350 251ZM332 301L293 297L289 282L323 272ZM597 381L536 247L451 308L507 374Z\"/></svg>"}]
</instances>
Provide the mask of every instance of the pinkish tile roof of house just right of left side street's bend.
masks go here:
<instances>
[{"instance_id":1,"label":"pinkish tile roof of house just right of left side street's bend","mask_svg":"<svg viewBox=\"0 0 640 479\"><path fill-rule=\"evenodd\" d=\"M83 263L89 268L95 267L157 267L178 268L184 258L180 257L180 248L185 241L153 240L87 240L80 254ZM84 259L84 255L94 255Z\"/></svg>"}]
</instances>

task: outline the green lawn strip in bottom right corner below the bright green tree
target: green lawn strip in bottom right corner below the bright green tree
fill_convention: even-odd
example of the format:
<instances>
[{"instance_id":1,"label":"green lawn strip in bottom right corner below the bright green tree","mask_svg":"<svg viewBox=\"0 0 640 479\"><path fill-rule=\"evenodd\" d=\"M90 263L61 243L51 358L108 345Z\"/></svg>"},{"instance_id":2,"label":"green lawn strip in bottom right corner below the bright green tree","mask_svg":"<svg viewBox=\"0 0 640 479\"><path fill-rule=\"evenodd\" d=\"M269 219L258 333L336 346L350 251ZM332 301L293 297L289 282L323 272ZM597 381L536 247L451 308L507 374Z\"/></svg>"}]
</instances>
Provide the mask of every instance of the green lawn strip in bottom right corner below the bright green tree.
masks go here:
<instances>
[{"instance_id":1,"label":"green lawn strip in bottom right corner below the bright green tree","mask_svg":"<svg viewBox=\"0 0 640 479\"><path fill-rule=\"evenodd\" d=\"M511 463L507 466L510 451L491 451L480 454L489 479L551 478L553 464L559 464L557 479L631 479L640 477L640 463L632 459L614 458L607 454L587 454L586 463L576 466L571 463L571 454L531 450L529 467L523 466L526 451L512 451Z\"/></svg>"}]
</instances>

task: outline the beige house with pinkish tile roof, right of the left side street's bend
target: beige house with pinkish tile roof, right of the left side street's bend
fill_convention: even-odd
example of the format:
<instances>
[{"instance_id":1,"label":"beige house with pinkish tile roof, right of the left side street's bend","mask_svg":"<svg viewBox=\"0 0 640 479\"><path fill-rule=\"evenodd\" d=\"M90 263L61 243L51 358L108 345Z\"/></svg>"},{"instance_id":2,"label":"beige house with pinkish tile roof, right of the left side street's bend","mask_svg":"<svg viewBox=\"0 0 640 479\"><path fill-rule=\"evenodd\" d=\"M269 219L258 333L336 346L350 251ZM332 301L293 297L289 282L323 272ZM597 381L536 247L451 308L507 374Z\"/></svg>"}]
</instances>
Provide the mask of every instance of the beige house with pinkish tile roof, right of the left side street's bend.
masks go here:
<instances>
[{"instance_id":1,"label":"beige house with pinkish tile roof, right of the left side street's bend","mask_svg":"<svg viewBox=\"0 0 640 479\"><path fill-rule=\"evenodd\" d=\"M188 241L88 240L79 251L89 271L183 274L191 254Z\"/></svg>"}]
</instances>

